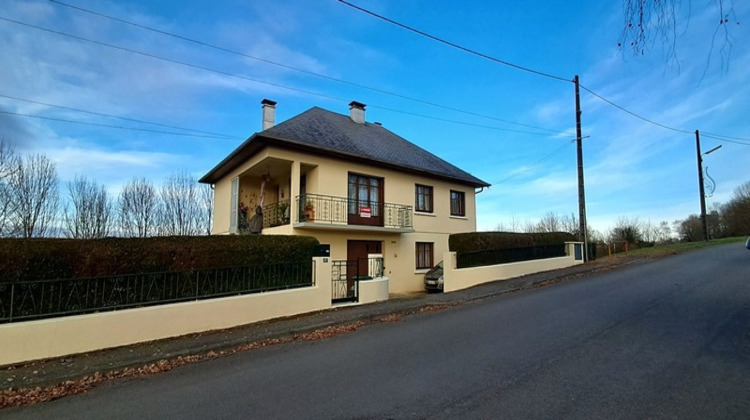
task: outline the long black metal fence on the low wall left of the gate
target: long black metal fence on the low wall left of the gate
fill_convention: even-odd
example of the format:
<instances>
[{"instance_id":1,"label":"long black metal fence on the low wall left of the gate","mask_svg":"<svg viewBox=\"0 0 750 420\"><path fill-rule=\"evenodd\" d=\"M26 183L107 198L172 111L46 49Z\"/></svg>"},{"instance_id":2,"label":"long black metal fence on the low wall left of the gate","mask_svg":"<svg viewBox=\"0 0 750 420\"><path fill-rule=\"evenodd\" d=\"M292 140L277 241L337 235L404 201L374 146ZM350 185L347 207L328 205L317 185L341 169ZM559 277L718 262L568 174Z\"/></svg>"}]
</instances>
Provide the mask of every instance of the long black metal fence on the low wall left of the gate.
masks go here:
<instances>
[{"instance_id":1,"label":"long black metal fence on the low wall left of the gate","mask_svg":"<svg viewBox=\"0 0 750 420\"><path fill-rule=\"evenodd\" d=\"M310 261L182 272L0 282L0 323L312 285Z\"/></svg>"}]
</instances>

